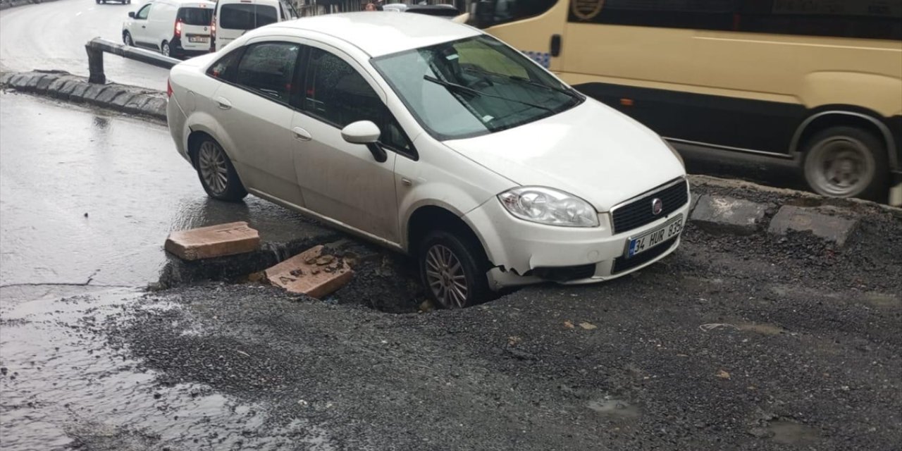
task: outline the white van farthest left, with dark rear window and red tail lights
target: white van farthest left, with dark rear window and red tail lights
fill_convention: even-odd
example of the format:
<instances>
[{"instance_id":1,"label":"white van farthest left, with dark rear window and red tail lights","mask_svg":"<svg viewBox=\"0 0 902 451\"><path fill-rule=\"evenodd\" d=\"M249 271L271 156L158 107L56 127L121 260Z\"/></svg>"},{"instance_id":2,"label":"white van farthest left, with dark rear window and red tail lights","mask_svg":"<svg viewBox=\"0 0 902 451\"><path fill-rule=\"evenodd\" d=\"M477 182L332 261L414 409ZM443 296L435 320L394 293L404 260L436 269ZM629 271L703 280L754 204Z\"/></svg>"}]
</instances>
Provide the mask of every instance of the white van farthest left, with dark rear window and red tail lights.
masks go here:
<instances>
[{"instance_id":1,"label":"white van farthest left, with dark rear window and red tail lights","mask_svg":"<svg viewBox=\"0 0 902 451\"><path fill-rule=\"evenodd\" d=\"M128 14L122 40L172 58L207 53L214 8L207 0L151 0Z\"/></svg>"}]
</instances>

